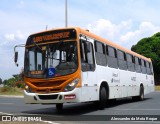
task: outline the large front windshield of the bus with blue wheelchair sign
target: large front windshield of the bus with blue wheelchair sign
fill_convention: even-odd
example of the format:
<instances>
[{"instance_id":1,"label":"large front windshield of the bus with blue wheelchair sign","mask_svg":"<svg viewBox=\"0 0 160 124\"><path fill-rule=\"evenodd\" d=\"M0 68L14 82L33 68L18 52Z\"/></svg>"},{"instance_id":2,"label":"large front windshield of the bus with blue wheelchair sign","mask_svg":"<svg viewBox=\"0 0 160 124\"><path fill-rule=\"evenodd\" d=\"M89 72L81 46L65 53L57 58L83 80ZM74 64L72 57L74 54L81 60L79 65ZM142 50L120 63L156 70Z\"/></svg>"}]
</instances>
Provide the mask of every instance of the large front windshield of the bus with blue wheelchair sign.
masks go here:
<instances>
[{"instance_id":1,"label":"large front windshield of the bus with blue wheelchair sign","mask_svg":"<svg viewBox=\"0 0 160 124\"><path fill-rule=\"evenodd\" d=\"M25 75L32 78L53 78L74 73L78 68L76 41L27 47L24 67ZM48 75L49 69L54 74Z\"/></svg>"}]
</instances>

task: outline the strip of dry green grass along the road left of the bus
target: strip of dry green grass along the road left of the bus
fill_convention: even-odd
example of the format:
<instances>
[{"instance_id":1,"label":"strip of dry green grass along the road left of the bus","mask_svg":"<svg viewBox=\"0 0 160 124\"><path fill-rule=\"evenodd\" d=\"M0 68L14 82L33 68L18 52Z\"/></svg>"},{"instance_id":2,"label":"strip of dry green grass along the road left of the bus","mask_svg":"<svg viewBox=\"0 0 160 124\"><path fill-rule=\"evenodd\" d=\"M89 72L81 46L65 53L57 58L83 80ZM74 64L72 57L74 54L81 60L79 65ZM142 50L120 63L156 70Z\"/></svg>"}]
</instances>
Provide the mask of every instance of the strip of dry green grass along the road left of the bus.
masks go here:
<instances>
[{"instance_id":1,"label":"strip of dry green grass along the road left of the bus","mask_svg":"<svg viewBox=\"0 0 160 124\"><path fill-rule=\"evenodd\" d=\"M23 95L23 89L17 87L3 86L0 88L0 95Z\"/></svg>"}]
</instances>

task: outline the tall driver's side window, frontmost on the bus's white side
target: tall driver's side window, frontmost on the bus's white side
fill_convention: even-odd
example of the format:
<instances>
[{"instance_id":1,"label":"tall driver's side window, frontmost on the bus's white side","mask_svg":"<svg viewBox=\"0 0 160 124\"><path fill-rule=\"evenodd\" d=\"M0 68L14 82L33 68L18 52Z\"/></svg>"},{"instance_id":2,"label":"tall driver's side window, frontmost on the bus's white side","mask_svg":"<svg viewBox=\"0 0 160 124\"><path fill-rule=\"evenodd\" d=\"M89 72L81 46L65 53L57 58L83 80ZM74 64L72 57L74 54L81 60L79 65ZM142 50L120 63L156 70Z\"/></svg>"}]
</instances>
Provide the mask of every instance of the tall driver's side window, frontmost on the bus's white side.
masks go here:
<instances>
[{"instance_id":1,"label":"tall driver's side window, frontmost on the bus's white side","mask_svg":"<svg viewBox=\"0 0 160 124\"><path fill-rule=\"evenodd\" d=\"M82 71L94 71L95 62L92 43L81 40L80 44Z\"/></svg>"}]
</instances>

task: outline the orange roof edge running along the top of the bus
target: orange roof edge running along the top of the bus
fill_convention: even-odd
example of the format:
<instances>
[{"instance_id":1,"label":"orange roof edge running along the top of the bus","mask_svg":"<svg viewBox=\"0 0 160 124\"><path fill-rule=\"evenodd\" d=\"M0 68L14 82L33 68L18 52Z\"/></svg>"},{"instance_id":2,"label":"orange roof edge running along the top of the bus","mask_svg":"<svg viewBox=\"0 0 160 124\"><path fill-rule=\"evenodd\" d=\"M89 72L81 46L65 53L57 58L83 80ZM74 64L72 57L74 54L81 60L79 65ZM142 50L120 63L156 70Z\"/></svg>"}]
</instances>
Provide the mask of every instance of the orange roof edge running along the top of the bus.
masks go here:
<instances>
[{"instance_id":1,"label":"orange roof edge running along the top of the bus","mask_svg":"<svg viewBox=\"0 0 160 124\"><path fill-rule=\"evenodd\" d=\"M138 57L138 58L144 59L144 60L146 60L146 61L148 61L148 62L151 62L151 59L150 59L150 58L144 57L144 56L142 56L142 55L140 55L140 54L138 54L138 53L135 53L135 52L133 52L133 51L127 49L127 48L124 48L124 47L122 47L122 46L120 46L120 45L118 45L118 44L116 44L116 43L114 43L114 42L111 42L111 41L109 41L109 40L106 40L106 39L98 36L98 35L95 35L95 34L89 32L89 31L87 31L87 30L83 30L83 29L81 29L80 27L57 28L57 29L51 29L51 30L45 30L45 31L42 31L42 32L37 32L37 33L34 33L34 34L32 34L32 35L36 35L36 34L40 34L40 33L45 33L45 32L49 32L49 31L54 31L54 30L63 30L63 29L75 29L79 34L87 35L87 36L89 36L90 38L93 38L93 39L95 39L95 40L97 40L97 41L103 42L103 43L105 43L105 44L107 44L107 45L109 45L109 46L112 46L112 47L116 48L116 49L119 49L119 50L121 50L121 51L124 51L124 52L126 52L126 53L129 53L129 54L131 54L131 55L134 55L134 56L136 56L136 57Z\"/></svg>"}]
</instances>

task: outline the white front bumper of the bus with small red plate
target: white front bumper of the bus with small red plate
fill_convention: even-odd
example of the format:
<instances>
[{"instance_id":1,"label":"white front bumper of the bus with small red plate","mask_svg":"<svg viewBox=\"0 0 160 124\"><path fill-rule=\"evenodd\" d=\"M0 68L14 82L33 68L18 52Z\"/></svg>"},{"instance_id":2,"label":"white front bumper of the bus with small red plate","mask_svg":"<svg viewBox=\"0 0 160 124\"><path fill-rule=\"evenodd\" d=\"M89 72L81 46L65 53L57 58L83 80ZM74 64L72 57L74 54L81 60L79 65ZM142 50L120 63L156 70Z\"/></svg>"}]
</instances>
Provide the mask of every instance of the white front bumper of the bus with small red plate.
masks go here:
<instances>
[{"instance_id":1,"label":"white front bumper of the bus with small red plate","mask_svg":"<svg viewBox=\"0 0 160 124\"><path fill-rule=\"evenodd\" d=\"M56 104L56 103L73 103L81 102L80 100L81 89L75 88L69 92L59 93L28 93L24 90L24 101L26 104Z\"/></svg>"}]
</instances>

